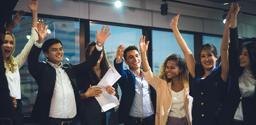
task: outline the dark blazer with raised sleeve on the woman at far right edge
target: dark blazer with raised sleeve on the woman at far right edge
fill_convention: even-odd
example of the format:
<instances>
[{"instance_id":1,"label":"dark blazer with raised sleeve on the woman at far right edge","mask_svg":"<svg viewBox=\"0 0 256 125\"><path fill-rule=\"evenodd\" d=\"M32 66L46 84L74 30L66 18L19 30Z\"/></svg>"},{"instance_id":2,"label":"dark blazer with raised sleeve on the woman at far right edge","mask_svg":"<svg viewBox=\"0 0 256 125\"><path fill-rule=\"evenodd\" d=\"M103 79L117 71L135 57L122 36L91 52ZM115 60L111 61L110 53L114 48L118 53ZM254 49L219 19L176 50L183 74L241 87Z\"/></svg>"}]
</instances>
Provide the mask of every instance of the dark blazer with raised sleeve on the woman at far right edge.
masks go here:
<instances>
[{"instance_id":1,"label":"dark blazer with raised sleeve on the woman at far right edge","mask_svg":"<svg viewBox=\"0 0 256 125\"><path fill-rule=\"evenodd\" d=\"M237 27L229 28L230 43L228 48L228 62L230 73L230 89L222 104L218 120L222 125L231 125L236 109L242 101L244 125L255 124L256 118L256 93L253 97L241 97L238 78L243 72L243 67L239 64L239 50L238 50L238 31Z\"/></svg>"}]
</instances>

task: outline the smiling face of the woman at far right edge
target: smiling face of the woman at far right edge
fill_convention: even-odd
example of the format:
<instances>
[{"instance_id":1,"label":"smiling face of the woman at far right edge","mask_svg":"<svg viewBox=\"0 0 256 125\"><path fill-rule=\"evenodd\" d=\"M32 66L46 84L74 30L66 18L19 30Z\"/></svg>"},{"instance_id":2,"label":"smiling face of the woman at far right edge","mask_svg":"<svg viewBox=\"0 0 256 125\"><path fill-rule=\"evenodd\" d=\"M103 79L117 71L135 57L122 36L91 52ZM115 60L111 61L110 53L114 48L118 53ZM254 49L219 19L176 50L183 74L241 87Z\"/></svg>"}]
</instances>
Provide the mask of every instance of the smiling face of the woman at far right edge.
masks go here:
<instances>
[{"instance_id":1,"label":"smiling face of the woman at far right edge","mask_svg":"<svg viewBox=\"0 0 256 125\"><path fill-rule=\"evenodd\" d=\"M250 59L248 56L248 51L247 48L244 47L240 56L239 56L239 60L240 60L240 66L244 67L245 70L250 70L251 66L250 66Z\"/></svg>"}]
</instances>

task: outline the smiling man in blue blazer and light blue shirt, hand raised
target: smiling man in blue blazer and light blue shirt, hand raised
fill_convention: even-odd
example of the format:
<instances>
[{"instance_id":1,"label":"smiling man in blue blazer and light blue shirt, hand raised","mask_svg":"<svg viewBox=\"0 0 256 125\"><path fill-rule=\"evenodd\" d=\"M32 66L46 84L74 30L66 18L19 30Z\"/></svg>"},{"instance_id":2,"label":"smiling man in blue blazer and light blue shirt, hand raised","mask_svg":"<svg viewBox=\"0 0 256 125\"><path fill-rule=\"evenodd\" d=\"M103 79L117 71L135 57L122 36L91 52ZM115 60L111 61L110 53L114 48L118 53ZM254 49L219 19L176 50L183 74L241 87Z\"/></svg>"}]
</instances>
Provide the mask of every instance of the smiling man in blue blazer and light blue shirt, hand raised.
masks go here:
<instances>
[{"instance_id":1,"label":"smiling man in blue blazer and light blue shirt, hand raised","mask_svg":"<svg viewBox=\"0 0 256 125\"><path fill-rule=\"evenodd\" d=\"M126 70L123 69L123 61L129 66ZM117 112L119 124L155 125L156 90L144 79L140 65L136 46L118 47L114 66L121 75L117 81L122 90Z\"/></svg>"}]
</instances>

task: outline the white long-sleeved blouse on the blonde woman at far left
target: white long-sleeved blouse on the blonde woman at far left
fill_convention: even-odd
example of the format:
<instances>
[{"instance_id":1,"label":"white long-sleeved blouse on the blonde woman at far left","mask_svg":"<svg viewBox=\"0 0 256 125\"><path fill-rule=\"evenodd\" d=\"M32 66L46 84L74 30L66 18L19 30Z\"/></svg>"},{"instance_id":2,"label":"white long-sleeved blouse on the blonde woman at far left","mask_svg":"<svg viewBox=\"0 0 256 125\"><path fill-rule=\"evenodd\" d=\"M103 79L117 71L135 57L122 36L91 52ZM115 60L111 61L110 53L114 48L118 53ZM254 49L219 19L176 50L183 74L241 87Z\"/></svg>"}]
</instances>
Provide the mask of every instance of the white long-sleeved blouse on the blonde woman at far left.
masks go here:
<instances>
[{"instance_id":1,"label":"white long-sleeved blouse on the blonde woman at far left","mask_svg":"<svg viewBox=\"0 0 256 125\"><path fill-rule=\"evenodd\" d=\"M16 97L16 99L21 99L21 89L20 89L20 67L27 61L29 52L34 44L34 42L38 39L37 32L34 28L31 28L31 37L28 43L25 45L24 49L21 53L14 58L14 63L17 64L17 70L12 73L9 69L6 69L5 76L8 81L8 87L10 89L10 95ZM17 41L16 41L17 42Z\"/></svg>"}]
</instances>

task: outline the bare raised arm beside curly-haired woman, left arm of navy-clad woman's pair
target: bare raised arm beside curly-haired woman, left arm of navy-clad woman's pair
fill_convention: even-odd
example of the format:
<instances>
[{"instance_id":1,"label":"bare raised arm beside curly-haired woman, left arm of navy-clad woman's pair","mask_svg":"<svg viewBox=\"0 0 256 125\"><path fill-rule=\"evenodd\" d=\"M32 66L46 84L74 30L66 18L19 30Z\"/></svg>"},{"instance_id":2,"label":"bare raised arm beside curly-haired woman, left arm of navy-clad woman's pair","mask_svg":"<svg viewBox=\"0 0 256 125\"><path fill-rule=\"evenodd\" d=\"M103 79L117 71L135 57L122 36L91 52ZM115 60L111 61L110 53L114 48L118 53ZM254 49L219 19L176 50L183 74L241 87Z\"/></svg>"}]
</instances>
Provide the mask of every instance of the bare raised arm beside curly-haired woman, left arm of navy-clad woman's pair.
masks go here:
<instances>
[{"instance_id":1,"label":"bare raised arm beside curly-haired woman, left arm of navy-clad woman's pair","mask_svg":"<svg viewBox=\"0 0 256 125\"><path fill-rule=\"evenodd\" d=\"M194 76L195 76L195 72L194 72L194 70L195 70L195 59L193 57L192 52L188 48L186 42L182 38L182 36L181 36L181 34L180 34L180 32L179 32L179 30L177 28L179 17L180 17L180 14L175 16L172 19L172 21L171 21L171 28L172 28L174 36L175 36L178 44L181 47L181 50L182 50L183 54L184 54L184 57L186 59L186 63L187 63L189 72L192 75L192 77L194 78Z\"/></svg>"}]
</instances>

